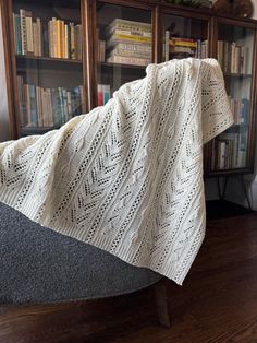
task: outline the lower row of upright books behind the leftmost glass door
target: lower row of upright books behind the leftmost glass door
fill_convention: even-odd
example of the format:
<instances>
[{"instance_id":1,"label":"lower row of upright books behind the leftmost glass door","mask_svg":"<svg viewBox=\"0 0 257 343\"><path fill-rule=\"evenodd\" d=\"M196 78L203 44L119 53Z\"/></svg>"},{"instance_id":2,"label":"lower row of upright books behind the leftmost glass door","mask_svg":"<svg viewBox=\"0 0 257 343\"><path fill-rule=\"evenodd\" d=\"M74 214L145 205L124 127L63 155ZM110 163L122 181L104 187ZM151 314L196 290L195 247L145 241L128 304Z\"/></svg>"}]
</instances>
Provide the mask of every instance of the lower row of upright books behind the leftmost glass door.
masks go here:
<instances>
[{"instance_id":1,"label":"lower row of upright books behind the leftmost glass door","mask_svg":"<svg viewBox=\"0 0 257 343\"><path fill-rule=\"evenodd\" d=\"M82 114L83 86L45 88L24 83L17 76L20 120L22 127L59 128L72 117Z\"/></svg>"}]
</instances>

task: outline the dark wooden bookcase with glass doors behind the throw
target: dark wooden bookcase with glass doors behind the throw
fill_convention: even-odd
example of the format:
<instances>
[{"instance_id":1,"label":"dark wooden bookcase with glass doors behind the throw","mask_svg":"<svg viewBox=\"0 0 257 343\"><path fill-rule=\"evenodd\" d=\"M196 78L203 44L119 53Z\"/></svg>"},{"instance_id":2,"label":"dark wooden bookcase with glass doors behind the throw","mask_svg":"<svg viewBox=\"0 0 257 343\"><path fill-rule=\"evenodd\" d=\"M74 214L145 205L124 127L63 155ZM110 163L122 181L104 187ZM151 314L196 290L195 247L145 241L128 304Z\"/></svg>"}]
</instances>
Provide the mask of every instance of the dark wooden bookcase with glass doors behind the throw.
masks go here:
<instances>
[{"instance_id":1,"label":"dark wooden bookcase with glass doors behind the throw","mask_svg":"<svg viewBox=\"0 0 257 343\"><path fill-rule=\"evenodd\" d=\"M205 175L250 173L256 21L164 0L0 0L11 138L58 129L105 105L148 63L217 58L234 126L205 146Z\"/></svg>"}]
</instances>

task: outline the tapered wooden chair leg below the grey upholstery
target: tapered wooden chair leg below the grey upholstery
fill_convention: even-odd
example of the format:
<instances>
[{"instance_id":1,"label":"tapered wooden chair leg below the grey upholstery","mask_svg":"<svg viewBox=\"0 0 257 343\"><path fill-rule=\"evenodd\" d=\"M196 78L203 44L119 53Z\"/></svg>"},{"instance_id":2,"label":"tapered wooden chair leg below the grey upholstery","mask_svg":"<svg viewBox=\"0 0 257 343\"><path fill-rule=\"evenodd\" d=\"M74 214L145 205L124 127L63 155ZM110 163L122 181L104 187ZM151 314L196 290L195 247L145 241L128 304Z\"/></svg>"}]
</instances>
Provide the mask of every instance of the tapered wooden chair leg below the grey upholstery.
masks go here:
<instances>
[{"instance_id":1,"label":"tapered wooden chair leg below the grey upholstery","mask_svg":"<svg viewBox=\"0 0 257 343\"><path fill-rule=\"evenodd\" d=\"M167 289L167 280L162 279L155 285L155 297L159 322L166 327L171 327L171 311Z\"/></svg>"}]
</instances>

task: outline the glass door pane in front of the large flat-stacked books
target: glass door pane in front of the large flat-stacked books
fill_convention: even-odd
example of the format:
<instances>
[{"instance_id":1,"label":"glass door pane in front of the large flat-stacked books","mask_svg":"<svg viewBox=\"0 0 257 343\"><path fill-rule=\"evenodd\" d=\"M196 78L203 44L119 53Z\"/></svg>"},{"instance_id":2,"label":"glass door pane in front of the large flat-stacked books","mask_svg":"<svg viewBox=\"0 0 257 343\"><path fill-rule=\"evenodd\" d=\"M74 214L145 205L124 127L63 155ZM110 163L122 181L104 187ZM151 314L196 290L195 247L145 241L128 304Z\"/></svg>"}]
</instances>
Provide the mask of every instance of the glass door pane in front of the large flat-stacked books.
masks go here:
<instances>
[{"instance_id":1,"label":"glass door pane in front of the large flat-stacked books","mask_svg":"<svg viewBox=\"0 0 257 343\"><path fill-rule=\"evenodd\" d=\"M97 105L105 105L123 83L145 76L152 50L151 12L97 3Z\"/></svg>"}]
</instances>

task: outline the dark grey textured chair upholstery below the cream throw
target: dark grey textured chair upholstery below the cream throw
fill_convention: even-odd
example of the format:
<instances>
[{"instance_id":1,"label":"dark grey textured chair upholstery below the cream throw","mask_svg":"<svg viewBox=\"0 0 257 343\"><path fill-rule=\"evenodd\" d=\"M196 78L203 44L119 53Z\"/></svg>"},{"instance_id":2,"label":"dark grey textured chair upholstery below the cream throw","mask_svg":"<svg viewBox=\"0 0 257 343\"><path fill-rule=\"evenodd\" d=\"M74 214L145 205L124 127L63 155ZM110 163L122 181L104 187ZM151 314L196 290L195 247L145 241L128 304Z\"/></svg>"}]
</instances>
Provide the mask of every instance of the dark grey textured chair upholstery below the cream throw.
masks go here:
<instances>
[{"instance_id":1,"label":"dark grey textured chair upholstery below the cream throw","mask_svg":"<svg viewBox=\"0 0 257 343\"><path fill-rule=\"evenodd\" d=\"M54 233L0 203L0 305L101 298L162 276Z\"/></svg>"}]
</instances>

